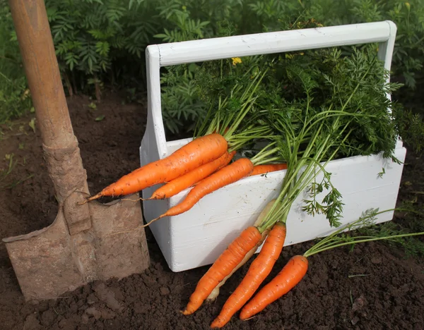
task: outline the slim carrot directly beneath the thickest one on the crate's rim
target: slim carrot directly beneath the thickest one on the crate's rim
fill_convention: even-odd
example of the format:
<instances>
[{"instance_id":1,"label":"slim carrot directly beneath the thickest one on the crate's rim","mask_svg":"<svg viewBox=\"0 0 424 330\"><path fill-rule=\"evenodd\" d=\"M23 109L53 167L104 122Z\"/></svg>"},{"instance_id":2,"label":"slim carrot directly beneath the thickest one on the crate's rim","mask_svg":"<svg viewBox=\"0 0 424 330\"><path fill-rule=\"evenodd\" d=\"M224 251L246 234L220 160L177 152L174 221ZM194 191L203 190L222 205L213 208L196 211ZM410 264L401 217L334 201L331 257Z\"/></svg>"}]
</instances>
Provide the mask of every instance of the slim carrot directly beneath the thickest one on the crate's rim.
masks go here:
<instances>
[{"instance_id":1,"label":"slim carrot directly beneath the thickest one on the crate's rim","mask_svg":"<svg viewBox=\"0 0 424 330\"><path fill-rule=\"evenodd\" d=\"M148 200L163 200L165 198L170 198L172 196L177 195L177 193L181 192L184 189L187 189L206 178L206 176L215 172L217 169L220 169L223 166L228 165L230 163L232 157L234 157L235 151L228 153L225 152L221 157L211 161L210 163L199 166L193 171L189 171L189 173L184 174L184 176L180 176L179 178L175 178L170 181L166 185L155 190L155 192L151 195Z\"/></svg>"}]
</instances>

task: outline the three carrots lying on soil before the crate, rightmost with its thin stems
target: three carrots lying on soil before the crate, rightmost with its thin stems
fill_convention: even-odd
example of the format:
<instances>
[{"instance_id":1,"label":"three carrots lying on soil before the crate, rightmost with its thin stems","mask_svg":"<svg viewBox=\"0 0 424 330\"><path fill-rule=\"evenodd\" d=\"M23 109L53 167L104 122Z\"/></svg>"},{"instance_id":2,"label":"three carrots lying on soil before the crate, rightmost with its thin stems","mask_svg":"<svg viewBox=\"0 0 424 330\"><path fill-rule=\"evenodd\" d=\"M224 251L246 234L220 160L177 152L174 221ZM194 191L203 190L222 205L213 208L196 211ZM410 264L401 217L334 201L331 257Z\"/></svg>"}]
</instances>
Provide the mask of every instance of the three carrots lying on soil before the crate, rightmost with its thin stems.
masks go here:
<instances>
[{"instance_id":1,"label":"three carrots lying on soil before the crate, rightmost with its thin stems","mask_svg":"<svg viewBox=\"0 0 424 330\"><path fill-rule=\"evenodd\" d=\"M276 200L273 200L267 205L266 212L275 202ZM240 236L235 238L228 249L225 250L212 267L208 269L196 286L196 290L192 293L189 303L182 313L185 315L194 313L200 307L201 303L208 298L208 295L211 295L216 286L219 288L235 270L240 268L242 264L245 264L248 259L245 256L252 256L257 247L263 242L264 236L266 236L266 239L261 252L259 252L257 258L254 259L250 265L242 282L225 302L218 317L213 320L211 328L221 328L227 324L232 315L239 310L241 310L240 319L247 320L288 293L297 286L307 274L309 266L307 258L312 255L345 245L424 234L424 232L421 232L376 237L339 236L343 231L352 231L355 228L371 226L376 216L384 212L393 211L396 211L396 209L387 209L381 212L379 212L378 209L367 210L358 220L353 221L351 224L341 226L329 236L326 236L326 238L313 245L303 255L291 257L283 269L254 295L264 279L269 276L273 265L281 253L285 240L285 224L282 222L277 222L271 231L266 231L265 234L264 232L261 234L261 229L255 226L257 222L254 226L250 226L246 228L245 231L242 231ZM404 209L404 211L407 210ZM261 214L260 218L262 216L264 216L264 212Z\"/></svg>"}]
</instances>

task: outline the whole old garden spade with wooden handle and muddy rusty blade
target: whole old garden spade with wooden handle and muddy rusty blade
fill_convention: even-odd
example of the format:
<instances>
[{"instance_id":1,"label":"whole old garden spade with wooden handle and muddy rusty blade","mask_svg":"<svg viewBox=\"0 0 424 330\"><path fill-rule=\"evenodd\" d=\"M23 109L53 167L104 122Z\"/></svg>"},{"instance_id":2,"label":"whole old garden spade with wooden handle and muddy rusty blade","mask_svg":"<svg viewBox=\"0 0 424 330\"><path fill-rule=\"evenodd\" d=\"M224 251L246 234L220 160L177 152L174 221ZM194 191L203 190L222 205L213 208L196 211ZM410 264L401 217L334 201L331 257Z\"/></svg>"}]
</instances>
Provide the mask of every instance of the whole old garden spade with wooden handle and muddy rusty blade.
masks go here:
<instances>
[{"instance_id":1,"label":"whole old garden spade with wooden handle and muddy rusty blade","mask_svg":"<svg viewBox=\"0 0 424 330\"><path fill-rule=\"evenodd\" d=\"M25 300L57 298L94 281L140 273L150 260L137 195L88 197L43 0L10 0L20 53L59 212L47 228L4 238ZM12 221L12 219L11 219Z\"/></svg>"}]
</instances>

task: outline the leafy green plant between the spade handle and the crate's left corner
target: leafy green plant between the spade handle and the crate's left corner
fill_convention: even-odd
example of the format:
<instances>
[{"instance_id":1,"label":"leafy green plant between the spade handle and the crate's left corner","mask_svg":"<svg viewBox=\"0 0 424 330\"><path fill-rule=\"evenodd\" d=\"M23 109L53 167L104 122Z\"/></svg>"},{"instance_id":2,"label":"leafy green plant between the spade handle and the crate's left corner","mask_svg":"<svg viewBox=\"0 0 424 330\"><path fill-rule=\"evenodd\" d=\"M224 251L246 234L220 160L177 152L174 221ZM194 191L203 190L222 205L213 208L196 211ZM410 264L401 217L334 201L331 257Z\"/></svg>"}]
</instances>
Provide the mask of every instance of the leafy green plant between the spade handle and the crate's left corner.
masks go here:
<instances>
[{"instance_id":1,"label":"leafy green plant between the spade handle and the crate's left corner","mask_svg":"<svg viewBox=\"0 0 424 330\"><path fill-rule=\"evenodd\" d=\"M126 58L141 62L158 27L152 1L47 0L46 7L70 95L78 89L94 90L100 100L103 83L114 83L125 75L117 63ZM140 71L126 69L133 75Z\"/></svg>"}]
</instances>

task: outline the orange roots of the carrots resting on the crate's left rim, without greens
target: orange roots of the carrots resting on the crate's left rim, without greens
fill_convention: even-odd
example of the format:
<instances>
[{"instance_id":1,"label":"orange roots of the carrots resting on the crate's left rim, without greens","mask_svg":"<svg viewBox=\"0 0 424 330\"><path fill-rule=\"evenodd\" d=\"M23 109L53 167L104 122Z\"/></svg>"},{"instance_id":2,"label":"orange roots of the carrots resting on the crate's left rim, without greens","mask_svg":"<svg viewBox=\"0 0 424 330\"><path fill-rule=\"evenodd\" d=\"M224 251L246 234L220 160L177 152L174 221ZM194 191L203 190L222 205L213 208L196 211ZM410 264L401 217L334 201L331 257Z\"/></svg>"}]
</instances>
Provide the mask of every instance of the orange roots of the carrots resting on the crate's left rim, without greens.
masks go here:
<instances>
[{"instance_id":1,"label":"orange roots of the carrots resting on the crate's left rim, without greens","mask_svg":"<svg viewBox=\"0 0 424 330\"><path fill-rule=\"evenodd\" d=\"M152 185L165 183L148 198L163 200L192 187L182 202L153 219L153 222L165 216L187 212L205 195L242 178L286 168L286 164L282 163L255 166L262 159L260 153L252 159L240 158L232 161L234 155L235 150L228 150L228 142L223 135L211 133L192 140L165 159L153 161L132 171L97 195L89 197L88 201L102 196L129 195Z\"/></svg>"}]
</instances>

